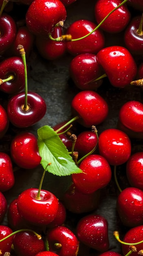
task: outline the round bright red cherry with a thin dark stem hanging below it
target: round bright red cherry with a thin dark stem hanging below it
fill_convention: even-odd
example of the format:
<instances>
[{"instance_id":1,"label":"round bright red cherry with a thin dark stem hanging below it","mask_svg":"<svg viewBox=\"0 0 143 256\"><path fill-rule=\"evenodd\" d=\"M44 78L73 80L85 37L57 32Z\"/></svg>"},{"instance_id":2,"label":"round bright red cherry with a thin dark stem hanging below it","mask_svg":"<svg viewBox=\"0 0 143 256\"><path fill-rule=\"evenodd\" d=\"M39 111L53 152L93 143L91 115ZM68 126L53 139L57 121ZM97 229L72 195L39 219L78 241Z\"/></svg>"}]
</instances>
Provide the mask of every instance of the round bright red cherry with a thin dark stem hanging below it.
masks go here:
<instances>
[{"instance_id":1,"label":"round bright red cherry with a thin dark stem hanging below it","mask_svg":"<svg viewBox=\"0 0 143 256\"><path fill-rule=\"evenodd\" d=\"M131 142L128 135L114 128L104 130L99 135L99 153L111 165L125 163L131 154Z\"/></svg>"}]
</instances>

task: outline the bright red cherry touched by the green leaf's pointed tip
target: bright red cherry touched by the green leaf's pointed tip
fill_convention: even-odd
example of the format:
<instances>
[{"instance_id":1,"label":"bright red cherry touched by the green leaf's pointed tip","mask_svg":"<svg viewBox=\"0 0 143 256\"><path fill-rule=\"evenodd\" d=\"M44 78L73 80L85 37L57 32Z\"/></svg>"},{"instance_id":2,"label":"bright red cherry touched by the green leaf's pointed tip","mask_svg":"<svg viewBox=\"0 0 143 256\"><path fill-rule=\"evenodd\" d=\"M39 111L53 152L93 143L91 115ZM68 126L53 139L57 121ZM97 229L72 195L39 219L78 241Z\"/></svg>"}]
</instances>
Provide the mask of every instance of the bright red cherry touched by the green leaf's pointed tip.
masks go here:
<instances>
[{"instance_id":1,"label":"bright red cherry touched by the green leaf's pointed tip","mask_svg":"<svg viewBox=\"0 0 143 256\"><path fill-rule=\"evenodd\" d=\"M106 186L111 180L111 169L100 155L88 155L79 165L82 173L72 174L76 188L82 193L93 193Z\"/></svg>"}]
</instances>

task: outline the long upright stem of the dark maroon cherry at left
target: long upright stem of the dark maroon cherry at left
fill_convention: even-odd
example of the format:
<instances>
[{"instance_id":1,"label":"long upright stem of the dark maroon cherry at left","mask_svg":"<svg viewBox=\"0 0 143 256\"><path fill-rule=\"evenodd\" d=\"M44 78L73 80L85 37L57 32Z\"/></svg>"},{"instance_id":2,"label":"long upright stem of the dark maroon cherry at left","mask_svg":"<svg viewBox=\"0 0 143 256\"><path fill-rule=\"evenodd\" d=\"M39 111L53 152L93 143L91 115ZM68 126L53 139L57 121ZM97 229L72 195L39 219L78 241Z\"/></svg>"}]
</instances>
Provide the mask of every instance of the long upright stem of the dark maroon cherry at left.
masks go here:
<instances>
[{"instance_id":1,"label":"long upright stem of the dark maroon cherry at left","mask_svg":"<svg viewBox=\"0 0 143 256\"><path fill-rule=\"evenodd\" d=\"M26 57L25 57L25 51L24 51L24 47L22 45L18 45L17 49L19 50L21 57L22 57L22 61L23 61L23 65L24 65L24 76L25 76L25 99L24 99L24 105L22 106L22 110L27 111L29 110L29 106L27 104L27 66L26 66Z\"/></svg>"}]
</instances>

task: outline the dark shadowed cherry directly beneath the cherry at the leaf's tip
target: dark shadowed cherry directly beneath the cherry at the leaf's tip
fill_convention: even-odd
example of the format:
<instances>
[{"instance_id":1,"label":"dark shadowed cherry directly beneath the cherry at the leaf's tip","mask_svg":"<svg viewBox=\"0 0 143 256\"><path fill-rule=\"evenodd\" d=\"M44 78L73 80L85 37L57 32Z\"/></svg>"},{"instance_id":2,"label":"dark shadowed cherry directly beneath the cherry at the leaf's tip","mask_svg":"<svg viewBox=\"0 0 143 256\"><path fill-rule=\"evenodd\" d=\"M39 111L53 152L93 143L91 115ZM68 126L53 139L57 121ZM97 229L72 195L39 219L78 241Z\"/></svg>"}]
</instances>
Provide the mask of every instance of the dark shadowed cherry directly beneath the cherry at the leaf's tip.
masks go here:
<instances>
[{"instance_id":1,"label":"dark shadowed cherry directly beneath the cherry at the leaf's tip","mask_svg":"<svg viewBox=\"0 0 143 256\"><path fill-rule=\"evenodd\" d=\"M97 190L91 194L81 193L72 184L69 189L64 193L62 202L68 211L72 213L86 213L97 209L100 201L100 191Z\"/></svg>"}]
</instances>

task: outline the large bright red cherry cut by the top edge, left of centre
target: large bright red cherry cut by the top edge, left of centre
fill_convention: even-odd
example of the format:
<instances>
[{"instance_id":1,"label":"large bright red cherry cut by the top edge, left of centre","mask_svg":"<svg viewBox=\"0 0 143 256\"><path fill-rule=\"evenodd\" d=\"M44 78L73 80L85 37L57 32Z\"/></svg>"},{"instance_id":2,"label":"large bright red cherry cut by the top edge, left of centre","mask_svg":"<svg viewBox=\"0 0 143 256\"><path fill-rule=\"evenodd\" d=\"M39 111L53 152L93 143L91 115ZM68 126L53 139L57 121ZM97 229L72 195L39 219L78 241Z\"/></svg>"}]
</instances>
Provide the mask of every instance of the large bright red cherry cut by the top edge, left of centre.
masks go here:
<instances>
[{"instance_id":1,"label":"large bright red cherry cut by the top edge, left of centre","mask_svg":"<svg viewBox=\"0 0 143 256\"><path fill-rule=\"evenodd\" d=\"M59 21L66 19L66 8L60 0L33 1L26 12L26 25L35 35L48 37Z\"/></svg>"}]
</instances>

